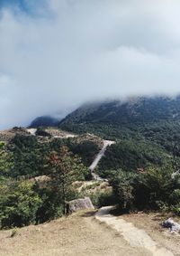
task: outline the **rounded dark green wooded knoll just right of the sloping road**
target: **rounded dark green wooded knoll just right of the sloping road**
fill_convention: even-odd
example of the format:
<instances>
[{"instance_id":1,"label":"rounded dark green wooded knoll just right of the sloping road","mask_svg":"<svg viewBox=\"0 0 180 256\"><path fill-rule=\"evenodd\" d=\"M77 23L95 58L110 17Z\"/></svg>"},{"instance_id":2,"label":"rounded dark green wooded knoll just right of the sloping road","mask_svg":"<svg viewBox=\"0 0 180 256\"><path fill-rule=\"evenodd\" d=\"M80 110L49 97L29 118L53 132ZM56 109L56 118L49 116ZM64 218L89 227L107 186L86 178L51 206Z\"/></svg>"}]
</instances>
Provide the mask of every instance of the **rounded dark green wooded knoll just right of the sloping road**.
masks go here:
<instances>
[{"instance_id":1,"label":"rounded dark green wooded knoll just right of the sloping road","mask_svg":"<svg viewBox=\"0 0 180 256\"><path fill-rule=\"evenodd\" d=\"M170 159L161 147L154 147L143 140L124 139L107 148L99 170L100 175L104 176L104 171L108 169L134 171L152 165L163 166L166 162L170 162Z\"/></svg>"}]
</instances>

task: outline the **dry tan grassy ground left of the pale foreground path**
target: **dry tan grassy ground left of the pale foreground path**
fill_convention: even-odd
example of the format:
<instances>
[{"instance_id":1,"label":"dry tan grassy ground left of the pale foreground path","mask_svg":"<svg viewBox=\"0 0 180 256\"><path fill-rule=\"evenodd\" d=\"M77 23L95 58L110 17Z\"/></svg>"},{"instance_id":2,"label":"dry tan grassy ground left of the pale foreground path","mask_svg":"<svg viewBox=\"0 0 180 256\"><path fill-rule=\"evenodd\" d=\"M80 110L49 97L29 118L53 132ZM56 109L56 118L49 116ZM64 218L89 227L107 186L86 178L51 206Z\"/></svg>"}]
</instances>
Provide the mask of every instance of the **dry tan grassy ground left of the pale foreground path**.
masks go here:
<instances>
[{"instance_id":1,"label":"dry tan grassy ground left of the pale foreground path","mask_svg":"<svg viewBox=\"0 0 180 256\"><path fill-rule=\"evenodd\" d=\"M38 226L0 232L1 256L150 256L131 248L118 232L81 213Z\"/></svg>"}]
</instances>

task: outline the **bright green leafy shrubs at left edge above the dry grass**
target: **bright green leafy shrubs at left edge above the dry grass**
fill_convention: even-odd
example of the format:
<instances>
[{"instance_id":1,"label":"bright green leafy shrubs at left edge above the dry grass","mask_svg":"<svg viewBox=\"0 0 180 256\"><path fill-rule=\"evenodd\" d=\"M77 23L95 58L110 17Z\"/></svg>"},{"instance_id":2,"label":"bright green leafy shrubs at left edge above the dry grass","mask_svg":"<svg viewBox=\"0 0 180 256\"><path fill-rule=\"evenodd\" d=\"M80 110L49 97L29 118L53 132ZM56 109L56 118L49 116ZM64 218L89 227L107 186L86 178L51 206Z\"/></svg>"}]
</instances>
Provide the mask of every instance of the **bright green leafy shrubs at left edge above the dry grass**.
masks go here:
<instances>
[{"instance_id":1,"label":"bright green leafy shrubs at left edge above the dry grass","mask_svg":"<svg viewBox=\"0 0 180 256\"><path fill-rule=\"evenodd\" d=\"M36 223L36 213L42 204L30 181L8 181L0 185L1 228Z\"/></svg>"}]
</instances>

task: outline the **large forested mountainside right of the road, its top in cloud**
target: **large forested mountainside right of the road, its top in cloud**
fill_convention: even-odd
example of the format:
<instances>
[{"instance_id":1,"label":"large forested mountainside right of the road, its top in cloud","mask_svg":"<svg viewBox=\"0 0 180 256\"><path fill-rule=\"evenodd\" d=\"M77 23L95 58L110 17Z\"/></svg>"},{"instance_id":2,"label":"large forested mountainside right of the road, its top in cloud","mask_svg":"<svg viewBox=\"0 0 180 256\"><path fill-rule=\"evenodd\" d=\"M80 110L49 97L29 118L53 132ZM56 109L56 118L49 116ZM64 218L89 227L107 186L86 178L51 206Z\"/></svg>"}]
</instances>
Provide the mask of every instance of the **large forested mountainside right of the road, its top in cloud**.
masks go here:
<instances>
[{"instance_id":1,"label":"large forested mountainside right of the road, its top in cloud","mask_svg":"<svg viewBox=\"0 0 180 256\"><path fill-rule=\"evenodd\" d=\"M150 165L179 168L180 98L135 98L88 104L59 123L76 133L115 140L99 169L137 170Z\"/></svg>"}]
</instances>

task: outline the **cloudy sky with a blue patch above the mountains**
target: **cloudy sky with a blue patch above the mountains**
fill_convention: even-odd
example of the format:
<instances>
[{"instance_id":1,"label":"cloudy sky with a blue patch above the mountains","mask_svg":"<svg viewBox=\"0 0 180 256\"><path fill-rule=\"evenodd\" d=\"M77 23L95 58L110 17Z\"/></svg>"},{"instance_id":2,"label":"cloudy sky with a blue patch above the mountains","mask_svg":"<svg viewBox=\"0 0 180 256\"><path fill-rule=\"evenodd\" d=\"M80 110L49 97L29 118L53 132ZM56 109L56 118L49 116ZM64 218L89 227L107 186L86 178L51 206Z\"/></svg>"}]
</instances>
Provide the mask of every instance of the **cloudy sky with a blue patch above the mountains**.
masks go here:
<instances>
[{"instance_id":1,"label":"cloudy sky with a blue patch above the mountains","mask_svg":"<svg viewBox=\"0 0 180 256\"><path fill-rule=\"evenodd\" d=\"M0 0L0 129L180 92L179 0Z\"/></svg>"}]
</instances>

